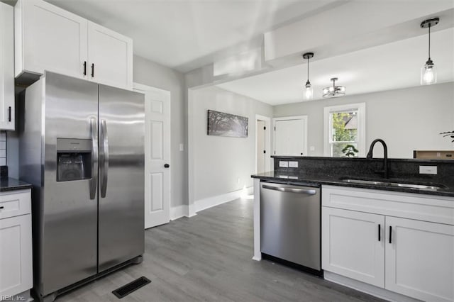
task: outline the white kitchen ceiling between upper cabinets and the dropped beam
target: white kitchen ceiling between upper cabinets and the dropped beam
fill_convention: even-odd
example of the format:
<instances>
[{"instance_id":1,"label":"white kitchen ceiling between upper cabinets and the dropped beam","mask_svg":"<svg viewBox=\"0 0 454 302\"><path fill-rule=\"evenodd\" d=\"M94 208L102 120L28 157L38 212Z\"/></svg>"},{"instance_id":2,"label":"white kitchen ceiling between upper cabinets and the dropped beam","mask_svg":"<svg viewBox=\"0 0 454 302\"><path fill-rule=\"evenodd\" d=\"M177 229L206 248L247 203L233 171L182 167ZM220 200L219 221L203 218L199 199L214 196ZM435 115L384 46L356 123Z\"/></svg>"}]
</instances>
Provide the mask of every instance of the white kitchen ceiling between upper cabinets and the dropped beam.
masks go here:
<instances>
[{"instance_id":1,"label":"white kitchen ceiling between upper cabinets and the dropped beam","mask_svg":"<svg viewBox=\"0 0 454 302\"><path fill-rule=\"evenodd\" d=\"M136 55L188 72L339 0L48 0L133 38ZM231 47L230 54L228 48Z\"/></svg>"}]
</instances>

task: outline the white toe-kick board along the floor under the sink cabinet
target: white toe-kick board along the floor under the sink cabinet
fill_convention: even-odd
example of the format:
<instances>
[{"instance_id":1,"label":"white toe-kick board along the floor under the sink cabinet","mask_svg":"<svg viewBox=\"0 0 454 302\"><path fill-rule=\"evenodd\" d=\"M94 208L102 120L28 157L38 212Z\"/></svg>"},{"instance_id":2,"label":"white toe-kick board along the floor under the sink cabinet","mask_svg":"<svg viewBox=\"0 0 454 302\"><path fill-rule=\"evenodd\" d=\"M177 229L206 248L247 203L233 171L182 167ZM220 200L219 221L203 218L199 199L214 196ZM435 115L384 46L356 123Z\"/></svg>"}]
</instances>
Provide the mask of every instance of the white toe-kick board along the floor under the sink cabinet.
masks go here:
<instances>
[{"instance_id":1,"label":"white toe-kick board along the floor under the sink cabinet","mask_svg":"<svg viewBox=\"0 0 454 302\"><path fill-rule=\"evenodd\" d=\"M388 291L387 289L382 289L377 286L373 286L370 284L366 284L364 282L350 279L346 276L341 276L336 273L324 271L323 278L341 284L343 286L350 287L350 289L356 289L357 291L362 291L363 293L369 293L372 296L376 296L378 298L382 298L387 301L399 301L399 302L417 302L414 298L409 296L401 295L400 293L394 293L393 291Z\"/></svg>"}]
</instances>

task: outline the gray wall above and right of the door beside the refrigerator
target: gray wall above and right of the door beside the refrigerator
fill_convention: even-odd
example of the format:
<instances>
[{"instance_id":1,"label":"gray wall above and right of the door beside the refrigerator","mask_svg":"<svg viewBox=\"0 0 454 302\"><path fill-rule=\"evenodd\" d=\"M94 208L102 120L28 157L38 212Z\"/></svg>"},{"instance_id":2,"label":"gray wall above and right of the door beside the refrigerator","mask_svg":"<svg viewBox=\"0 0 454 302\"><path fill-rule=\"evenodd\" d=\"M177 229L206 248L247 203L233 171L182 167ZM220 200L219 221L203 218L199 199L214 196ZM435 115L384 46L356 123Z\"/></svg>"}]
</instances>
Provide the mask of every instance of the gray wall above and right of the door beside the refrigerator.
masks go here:
<instances>
[{"instance_id":1,"label":"gray wall above and right of the door beside the refrigerator","mask_svg":"<svg viewBox=\"0 0 454 302\"><path fill-rule=\"evenodd\" d=\"M184 105L184 76L168 67L134 56L134 82L170 91L171 206L187 204L187 111ZM179 144L184 151L179 151Z\"/></svg>"}]
</instances>

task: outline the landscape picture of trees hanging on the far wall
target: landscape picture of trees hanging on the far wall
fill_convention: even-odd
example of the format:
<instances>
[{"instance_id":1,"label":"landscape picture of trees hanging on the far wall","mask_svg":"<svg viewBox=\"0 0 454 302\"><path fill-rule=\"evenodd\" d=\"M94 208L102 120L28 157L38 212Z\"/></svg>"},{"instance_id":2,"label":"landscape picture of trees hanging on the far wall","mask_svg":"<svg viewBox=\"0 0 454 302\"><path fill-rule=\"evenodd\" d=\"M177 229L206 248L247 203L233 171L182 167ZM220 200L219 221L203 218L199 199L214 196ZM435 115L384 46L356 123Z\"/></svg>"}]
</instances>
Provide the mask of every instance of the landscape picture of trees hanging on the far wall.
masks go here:
<instances>
[{"instance_id":1,"label":"landscape picture of trees hanging on the far wall","mask_svg":"<svg viewBox=\"0 0 454 302\"><path fill-rule=\"evenodd\" d=\"M208 111L208 135L248 137L248 118L219 111Z\"/></svg>"}]
</instances>

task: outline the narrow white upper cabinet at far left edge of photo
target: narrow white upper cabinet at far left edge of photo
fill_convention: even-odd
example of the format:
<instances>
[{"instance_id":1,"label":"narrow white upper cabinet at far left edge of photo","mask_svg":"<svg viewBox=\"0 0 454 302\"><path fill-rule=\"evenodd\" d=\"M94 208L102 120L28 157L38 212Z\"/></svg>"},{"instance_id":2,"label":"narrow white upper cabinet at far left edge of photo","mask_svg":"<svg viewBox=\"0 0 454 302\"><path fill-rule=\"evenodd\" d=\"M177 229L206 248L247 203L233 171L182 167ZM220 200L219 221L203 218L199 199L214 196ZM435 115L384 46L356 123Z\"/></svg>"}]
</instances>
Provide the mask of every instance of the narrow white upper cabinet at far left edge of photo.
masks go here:
<instances>
[{"instance_id":1,"label":"narrow white upper cabinet at far left edge of photo","mask_svg":"<svg viewBox=\"0 0 454 302\"><path fill-rule=\"evenodd\" d=\"M14 130L14 15L0 2L0 129Z\"/></svg>"}]
</instances>

